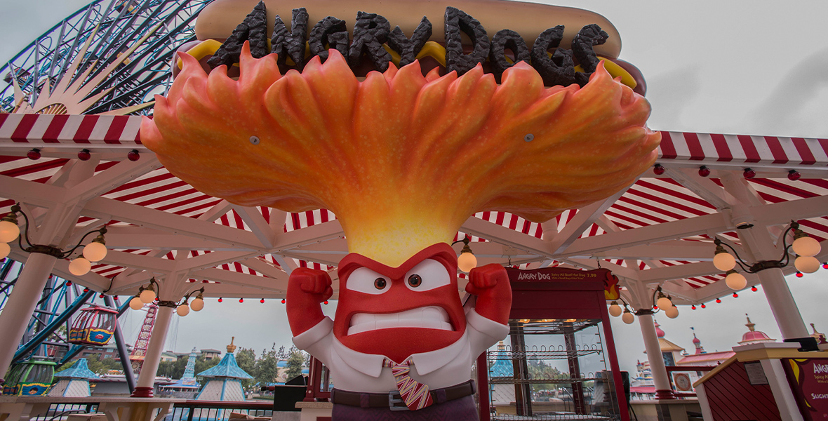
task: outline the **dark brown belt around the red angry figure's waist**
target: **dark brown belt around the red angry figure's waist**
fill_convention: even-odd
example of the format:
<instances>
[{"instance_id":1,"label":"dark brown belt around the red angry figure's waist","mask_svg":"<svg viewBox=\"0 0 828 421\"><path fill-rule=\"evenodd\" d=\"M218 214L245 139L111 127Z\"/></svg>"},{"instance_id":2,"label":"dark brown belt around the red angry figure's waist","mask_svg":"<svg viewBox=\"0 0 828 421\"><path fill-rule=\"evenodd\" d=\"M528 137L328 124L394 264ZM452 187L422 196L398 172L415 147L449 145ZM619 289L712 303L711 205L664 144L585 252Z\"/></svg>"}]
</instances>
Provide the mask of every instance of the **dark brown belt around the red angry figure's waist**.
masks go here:
<instances>
[{"instance_id":1,"label":"dark brown belt around the red angry figure's waist","mask_svg":"<svg viewBox=\"0 0 828 421\"><path fill-rule=\"evenodd\" d=\"M460 385L444 387L442 389L429 390L431 399L435 404L460 399L469 394L474 394L474 380L469 380ZM392 390L388 393L359 393L348 390L334 389L330 392L330 401L334 404L359 406L361 408L389 408L392 410L407 410L406 403L400 397L400 392Z\"/></svg>"}]
</instances>

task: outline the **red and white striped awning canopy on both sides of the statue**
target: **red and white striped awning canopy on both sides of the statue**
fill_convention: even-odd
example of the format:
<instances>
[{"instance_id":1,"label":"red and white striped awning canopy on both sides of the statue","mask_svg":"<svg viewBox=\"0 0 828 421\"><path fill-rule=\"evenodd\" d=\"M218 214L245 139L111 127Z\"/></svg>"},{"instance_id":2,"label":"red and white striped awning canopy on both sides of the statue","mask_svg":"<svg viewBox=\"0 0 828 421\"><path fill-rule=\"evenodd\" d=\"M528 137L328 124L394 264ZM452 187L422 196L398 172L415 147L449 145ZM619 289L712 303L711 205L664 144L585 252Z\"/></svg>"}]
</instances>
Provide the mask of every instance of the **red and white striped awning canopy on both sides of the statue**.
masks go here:
<instances>
[{"instance_id":1,"label":"red and white striped awning canopy on both sides of the statue","mask_svg":"<svg viewBox=\"0 0 828 421\"><path fill-rule=\"evenodd\" d=\"M36 197L42 193L26 186L52 184L63 168L77 162L80 149L99 157L95 174L125 162L132 149L141 153L140 162L154 160L138 135L141 119L0 114L0 212L7 212L15 201L41 206L48 197ZM28 159L26 152L31 148L40 149L42 157ZM712 237L719 235L739 246L739 236L722 216L734 211L727 191L739 183L754 197L745 206L773 230L795 219L817 240L828 238L828 202L821 199L828 197L828 139L662 132L657 162L667 172L643 174L611 203L596 205L594 215L567 210L538 224L504 212L480 212L467 221L457 238L473 235L479 243L473 248L481 264L582 268L601 264L630 282L670 281L673 295L685 302L703 302L721 293L719 287L708 288L722 278L710 264ZM710 177L696 173L700 166L712 170ZM746 180L742 175L746 167L757 176ZM802 178L788 180L791 170L800 172ZM118 277L123 278L123 288L119 288L124 292L137 285L126 280L128 274L150 270L153 262L215 257L216 264L192 270L187 275L190 281L239 285L249 281L257 292L239 289L238 296L282 297L284 277L278 274L283 269L332 269L347 253L341 228L328 210L286 215L282 234L290 240L281 244L278 238L268 240L262 233L273 226L273 215L285 216L282 212L239 208L207 196L157 163L136 171L90 200L77 220L81 231L102 223L111 228L108 247L117 253L93 271L114 277L116 286L121 285ZM142 212L147 212L146 219ZM232 230L198 234L196 225L189 231L182 228L188 220ZM166 236L169 233L178 237ZM141 257L132 259L126 254ZM156 273L164 267L161 262ZM272 288L267 286L271 278L279 278ZM94 283L94 279L86 282Z\"/></svg>"}]
</instances>

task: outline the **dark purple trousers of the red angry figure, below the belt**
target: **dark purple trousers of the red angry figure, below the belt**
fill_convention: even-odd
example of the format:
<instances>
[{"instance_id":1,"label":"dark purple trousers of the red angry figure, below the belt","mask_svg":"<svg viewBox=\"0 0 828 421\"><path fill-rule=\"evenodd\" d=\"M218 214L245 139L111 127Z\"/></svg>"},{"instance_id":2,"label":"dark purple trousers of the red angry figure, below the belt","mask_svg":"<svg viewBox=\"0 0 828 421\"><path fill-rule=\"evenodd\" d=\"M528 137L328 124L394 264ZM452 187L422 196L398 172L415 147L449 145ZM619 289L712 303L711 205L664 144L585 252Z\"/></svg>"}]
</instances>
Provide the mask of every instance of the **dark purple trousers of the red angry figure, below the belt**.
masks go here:
<instances>
[{"instance_id":1,"label":"dark purple trousers of the red angry figure, below the belt","mask_svg":"<svg viewBox=\"0 0 828 421\"><path fill-rule=\"evenodd\" d=\"M474 396L449 400L416 411L334 404L333 421L479 421Z\"/></svg>"}]
</instances>

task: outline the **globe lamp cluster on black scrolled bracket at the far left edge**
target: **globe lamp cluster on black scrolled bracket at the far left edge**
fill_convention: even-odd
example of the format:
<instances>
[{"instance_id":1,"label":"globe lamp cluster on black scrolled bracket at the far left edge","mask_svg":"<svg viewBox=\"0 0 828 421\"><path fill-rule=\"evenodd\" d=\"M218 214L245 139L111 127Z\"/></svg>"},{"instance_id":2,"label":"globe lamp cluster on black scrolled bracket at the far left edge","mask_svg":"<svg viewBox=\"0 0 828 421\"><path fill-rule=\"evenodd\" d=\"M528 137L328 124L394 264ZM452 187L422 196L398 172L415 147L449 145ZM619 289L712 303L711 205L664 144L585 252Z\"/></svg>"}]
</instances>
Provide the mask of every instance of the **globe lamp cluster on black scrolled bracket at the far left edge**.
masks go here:
<instances>
[{"instance_id":1,"label":"globe lamp cluster on black scrolled bracket at the far left edge","mask_svg":"<svg viewBox=\"0 0 828 421\"><path fill-rule=\"evenodd\" d=\"M22 235L20 232L20 226L17 222L18 213L23 215L23 218L26 220L26 230ZM84 245L81 255L70 262L69 271L75 276L83 276L86 273L89 273L89 270L92 269L92 263L98 262L106 257L106 240L103 238L103 235L107 232L105 226L101 227L99 230L91 230L84 234L75 247L65 251L47 244L32 244L29 239L30 226L31 223L29 221L29 216L26 215L26 212L21 209L20 203L14 204L14 206L12 206L12 210L0 219L0 259L4 259L9 253L11 253L12 248L8 243L11 243L14 240L17 240L17 244L20 246L20 249L26 253L48 254L57 259L66 259L74 254L76 249L79 249L84 240L86 240L86 237L94 233L98 233L98 235L94 238L94 240L89 242L89 244ZM26 240L27 245L25 247L23 246L23 240Z\"/></svg>"}]
</instances>

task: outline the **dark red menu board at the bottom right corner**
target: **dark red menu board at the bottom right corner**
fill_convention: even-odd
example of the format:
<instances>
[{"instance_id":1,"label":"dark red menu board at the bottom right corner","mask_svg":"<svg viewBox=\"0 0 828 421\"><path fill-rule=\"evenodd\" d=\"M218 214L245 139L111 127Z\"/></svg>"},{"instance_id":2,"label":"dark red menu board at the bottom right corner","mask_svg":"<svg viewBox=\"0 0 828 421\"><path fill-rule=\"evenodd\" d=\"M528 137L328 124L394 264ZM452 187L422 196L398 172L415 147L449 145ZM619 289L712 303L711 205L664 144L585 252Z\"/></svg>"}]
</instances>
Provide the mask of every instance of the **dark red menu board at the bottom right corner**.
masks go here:
<instances>
[{"instance_id":1,"label":"dark red menu board at the bottom right corner","mask_svg":"<svg viewBox=\"0 0 828 421\"><path fill-rule=\"evenodd\" d=\"M802 418L828 419L828 358L783 358Z\"/></svg>"}]
</instances>

